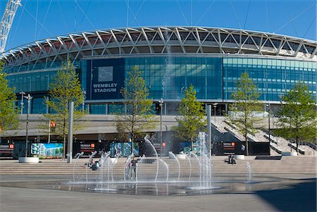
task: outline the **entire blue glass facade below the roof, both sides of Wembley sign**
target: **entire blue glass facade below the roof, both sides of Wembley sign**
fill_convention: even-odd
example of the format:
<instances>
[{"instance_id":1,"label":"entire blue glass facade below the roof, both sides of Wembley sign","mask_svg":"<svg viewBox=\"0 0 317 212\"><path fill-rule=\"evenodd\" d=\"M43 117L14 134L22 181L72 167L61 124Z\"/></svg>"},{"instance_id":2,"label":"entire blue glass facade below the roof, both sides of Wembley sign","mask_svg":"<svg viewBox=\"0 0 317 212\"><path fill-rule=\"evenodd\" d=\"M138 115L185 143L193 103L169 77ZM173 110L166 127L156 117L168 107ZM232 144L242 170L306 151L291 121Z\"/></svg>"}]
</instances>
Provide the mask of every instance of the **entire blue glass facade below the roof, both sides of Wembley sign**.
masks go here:
<instances>
[{"instance_id":1,"label":"entire blue glass facade below the roof, both sides of Wembley sign","mask_svg":"<svg viewBox=\"0 0 317 212\"><path fill-rule=\"evenodd\" d=\"M96 59L97 60L97 59ZM106 59L104 59L106 60ZM78 64L78 61L76 61ZM309 86L316 98L317 91L317 63L311 61L295 61L275 58L242 58L242 57L180 57L180 56L148 56L126 57L125 77L133 66L142 70L150 98L164 99L167 105L180 101L185 87L194 85L197 99L206 102L226 102L232 100L231 94L235 90L235 82L243 71L258 85L261 93L260 100L280 101L280 96L294 87L298 80ZM57 64L58 65L58 64ZM18 94L23 91L31 93L31 113L46 113L44 96L47 96L49 84L52 82L58 66L53 69L45 68L47 65L38 65L35 70L27 66L27 72L22 68L6 68L10 87L15 87ZM59 63L59 67L61 63ZM21 70L23 70L21 72ZM87 89L89 74L87 60L80 63L80 80L82 89ZM89 80L89 79L88 79ZM123 80L124 79L120 79ZM17 105L20 107L20 97ZM111 114L123 110L120 100L113 103L111 99L92 99L94 104L89 104L89 113ZM105 104L107 103L107 104ZM24 113L27 102L24 101ZM86 106L86 105L85 105ZM167 108L169 110L169 108Z\"/></svg>"}]
</instances>

